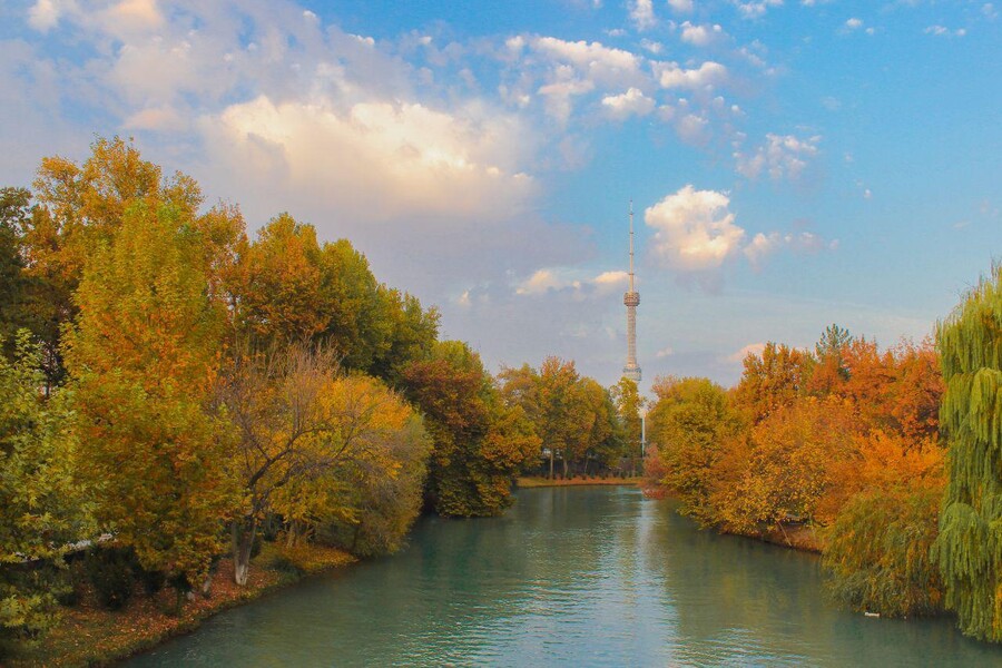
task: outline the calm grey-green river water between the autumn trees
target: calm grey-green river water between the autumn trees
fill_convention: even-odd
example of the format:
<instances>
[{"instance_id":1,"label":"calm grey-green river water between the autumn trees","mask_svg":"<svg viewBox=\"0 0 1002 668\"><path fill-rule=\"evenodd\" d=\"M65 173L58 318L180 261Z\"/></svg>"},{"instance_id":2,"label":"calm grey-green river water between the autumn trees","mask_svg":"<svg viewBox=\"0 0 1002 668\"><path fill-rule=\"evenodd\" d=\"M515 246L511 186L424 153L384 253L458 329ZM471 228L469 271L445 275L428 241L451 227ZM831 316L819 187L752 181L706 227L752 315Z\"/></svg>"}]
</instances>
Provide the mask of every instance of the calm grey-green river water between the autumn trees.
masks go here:
<instances>
[{"instance_id":1,"label":"calm grey-green river water between the autumn trees","mask_svg":"<svg viewBox=\"0 0 1002 668\"><path fill-rule=\"evenodd\" d=\"M698 531L628 488L428 519L401 554L275 593L129 666L1002 666L947 620L825 601L817 559Z\"/></svg>"}]
</instances>

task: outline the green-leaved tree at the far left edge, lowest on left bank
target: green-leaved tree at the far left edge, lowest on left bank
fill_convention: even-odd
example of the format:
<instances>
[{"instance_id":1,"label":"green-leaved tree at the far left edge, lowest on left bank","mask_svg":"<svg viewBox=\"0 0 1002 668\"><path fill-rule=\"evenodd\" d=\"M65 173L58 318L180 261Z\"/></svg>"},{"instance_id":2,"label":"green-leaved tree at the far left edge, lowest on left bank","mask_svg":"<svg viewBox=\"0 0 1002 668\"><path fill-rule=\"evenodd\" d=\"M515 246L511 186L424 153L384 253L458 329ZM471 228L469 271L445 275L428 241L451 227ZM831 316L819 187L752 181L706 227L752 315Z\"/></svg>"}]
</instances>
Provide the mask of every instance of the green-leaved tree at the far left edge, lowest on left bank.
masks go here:
<instances>
[{"instance_id":1,"label":"green-leaved tree at the far left edge, lowest on left bank","mask_svg":"<svg viewBox=\"0 0 1002 668\"><path fill-rule=\"evenodd\" d=\"M75 468L79 444L66 392L39 392L41 352L22 330L0 356L0 659L13 639L55 621L57 568L69 544L92 536L90 491Z\"/></svg>"}]
</instances>

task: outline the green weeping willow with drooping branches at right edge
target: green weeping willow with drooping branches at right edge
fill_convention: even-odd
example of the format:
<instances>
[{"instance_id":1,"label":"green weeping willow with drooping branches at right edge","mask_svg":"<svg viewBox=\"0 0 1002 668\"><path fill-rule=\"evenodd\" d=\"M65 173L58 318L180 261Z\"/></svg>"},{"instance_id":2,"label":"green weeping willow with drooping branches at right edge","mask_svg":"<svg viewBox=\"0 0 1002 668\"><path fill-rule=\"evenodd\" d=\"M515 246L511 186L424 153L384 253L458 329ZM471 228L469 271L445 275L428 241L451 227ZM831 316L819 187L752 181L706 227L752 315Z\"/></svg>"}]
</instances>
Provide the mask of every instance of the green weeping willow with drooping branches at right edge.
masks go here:
<instances>
[{"instance_id":1,"label":"green weeping willow with drooping branches at right edge","mask_svg":"<svg viewBox=\"0 0 1002 668\"><path fill-rule=\"evenodd\" d=\"M939 326L950 482L933 546L964 633L1002 641L1002 265Z\"/></svg>"}]
</instances>

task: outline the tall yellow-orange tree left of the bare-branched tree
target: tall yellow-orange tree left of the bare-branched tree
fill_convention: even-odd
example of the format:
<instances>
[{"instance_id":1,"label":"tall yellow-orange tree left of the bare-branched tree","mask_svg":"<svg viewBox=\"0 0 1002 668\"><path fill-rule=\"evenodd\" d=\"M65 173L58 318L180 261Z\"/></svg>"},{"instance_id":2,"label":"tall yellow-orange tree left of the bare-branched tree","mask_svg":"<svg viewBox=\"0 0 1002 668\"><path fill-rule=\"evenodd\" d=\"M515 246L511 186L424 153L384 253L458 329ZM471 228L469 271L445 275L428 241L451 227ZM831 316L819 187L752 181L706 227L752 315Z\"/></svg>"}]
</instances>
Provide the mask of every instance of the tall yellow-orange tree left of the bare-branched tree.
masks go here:
<instances>
[{"instance_id":1,"label":"tall yellow-orange tree left of the bare-branched tree","mask_svg":"<svg viewBox=\"0 0 1002 668\"><path fill-rule=\"evenodd\" d=\"M87 262L63 348L98 520L145 568L189 583L234 502L210 406L225 316L205 258L184 209L134 203Z\"/></svg>"}]
</instances>

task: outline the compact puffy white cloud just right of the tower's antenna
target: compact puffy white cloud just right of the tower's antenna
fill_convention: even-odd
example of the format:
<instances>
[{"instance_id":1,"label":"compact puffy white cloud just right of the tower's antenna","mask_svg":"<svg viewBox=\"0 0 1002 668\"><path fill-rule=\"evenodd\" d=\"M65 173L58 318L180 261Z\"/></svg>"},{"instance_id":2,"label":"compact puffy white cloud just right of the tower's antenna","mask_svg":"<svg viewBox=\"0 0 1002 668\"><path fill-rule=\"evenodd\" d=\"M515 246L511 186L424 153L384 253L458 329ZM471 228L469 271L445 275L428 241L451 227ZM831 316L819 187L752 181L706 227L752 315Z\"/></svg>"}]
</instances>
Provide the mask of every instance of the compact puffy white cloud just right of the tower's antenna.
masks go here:
<instances>
[{"instance_id":1,"label":"compact puffy white cloud just right of the tower's antenna","mask_svg":"<svg viewBox=\"0 0 1002 668\"><path fill-rule=\"evenodd\" d=\"M656 229L652 254L676 272L720 267L740 249L745 230L734 224L730 198L687 185L644 213Z\"/></svg>"}]
</instances>

